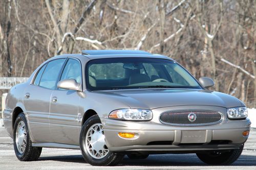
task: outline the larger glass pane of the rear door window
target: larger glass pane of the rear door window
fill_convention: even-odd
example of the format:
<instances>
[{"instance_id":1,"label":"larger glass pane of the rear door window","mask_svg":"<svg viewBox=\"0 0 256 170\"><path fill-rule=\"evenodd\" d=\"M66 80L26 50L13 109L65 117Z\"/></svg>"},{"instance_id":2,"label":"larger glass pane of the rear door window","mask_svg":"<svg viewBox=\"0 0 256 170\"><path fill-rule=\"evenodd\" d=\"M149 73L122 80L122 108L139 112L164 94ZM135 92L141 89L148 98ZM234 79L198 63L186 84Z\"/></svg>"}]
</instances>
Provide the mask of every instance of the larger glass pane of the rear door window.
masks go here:
<instances>
[{"instance_id":1,"label":"larger glass pane of the rear door window","mask_svg":"<svg viewBox=\"0 0 256 170\"><path fill-rule=\"evenodd\" d=\"M59 71L62 68L65 60L66 59L58 59L50 61L47 64L44 73L42 74L39 86L54 89L57 78L59 76Z\"/></svg>"}]
</instances>

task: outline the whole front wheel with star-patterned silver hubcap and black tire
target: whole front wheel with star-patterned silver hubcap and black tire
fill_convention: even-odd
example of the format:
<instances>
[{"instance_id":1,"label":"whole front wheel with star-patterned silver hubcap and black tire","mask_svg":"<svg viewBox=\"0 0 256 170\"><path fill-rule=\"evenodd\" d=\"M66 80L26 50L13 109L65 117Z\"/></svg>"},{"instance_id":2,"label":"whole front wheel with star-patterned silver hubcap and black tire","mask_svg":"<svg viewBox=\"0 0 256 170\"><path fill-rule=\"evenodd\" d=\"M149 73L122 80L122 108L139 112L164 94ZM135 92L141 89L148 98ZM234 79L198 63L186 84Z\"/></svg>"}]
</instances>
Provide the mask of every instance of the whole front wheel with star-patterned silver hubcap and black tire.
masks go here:
<instances>
[{"instance_id":1,"label":"whole front wheel with star-patterned silver hubcap and black tire","mask_svg":"<svg viewBox=\"0 0 256 170\"><path fill-rule=\"evenodd\" d=\"M106 147L105 135L98 115L91 116L83 124L80 148L84 160L95 166L116 165L123 158L123 154L112 152Z\"/></svg>"}]
</instances>

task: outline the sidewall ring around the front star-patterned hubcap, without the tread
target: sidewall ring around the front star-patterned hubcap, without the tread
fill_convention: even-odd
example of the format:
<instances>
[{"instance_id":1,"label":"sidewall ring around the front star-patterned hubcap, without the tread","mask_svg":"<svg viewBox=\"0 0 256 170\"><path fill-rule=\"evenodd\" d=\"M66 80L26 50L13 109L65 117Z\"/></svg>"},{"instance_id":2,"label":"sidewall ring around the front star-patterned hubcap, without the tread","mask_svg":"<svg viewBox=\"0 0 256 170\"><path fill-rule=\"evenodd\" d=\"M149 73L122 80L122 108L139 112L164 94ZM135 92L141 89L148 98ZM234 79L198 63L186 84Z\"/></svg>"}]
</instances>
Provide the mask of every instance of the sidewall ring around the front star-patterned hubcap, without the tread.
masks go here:
<instances>
[{"instance_id":1,"label":"sidewall ring around the front star-patterned hubcap, without the tread","mask_svg":"<svg viewBox=\"0 0 256 170\"><path fill-rule=\"evenodd\" d=\"M108 165L108 162L113 159L114 153L109 151L109 153L101 158L101 159L96 159L93 158L87 151L86 149L86 134L87 131L92 127L94 124L98 124L100 122L100 118L98 115L93 115L90 117L82 126L81 133L80 133L80 150L82 153L83 158L90 164L92 165Z\"/></svg>"}]
</instances>

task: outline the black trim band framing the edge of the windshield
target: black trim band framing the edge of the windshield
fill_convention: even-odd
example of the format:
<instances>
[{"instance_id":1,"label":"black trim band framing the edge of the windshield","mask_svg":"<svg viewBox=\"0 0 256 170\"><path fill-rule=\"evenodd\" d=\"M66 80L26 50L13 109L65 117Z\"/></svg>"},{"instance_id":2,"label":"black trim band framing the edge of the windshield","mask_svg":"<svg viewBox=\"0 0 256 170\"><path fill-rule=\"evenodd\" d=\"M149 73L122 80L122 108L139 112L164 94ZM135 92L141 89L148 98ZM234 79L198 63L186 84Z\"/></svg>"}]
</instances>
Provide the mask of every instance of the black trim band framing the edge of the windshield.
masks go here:
<instances>
[{"instance_id":1,"label":"black trim band framing the edge of the windshield","mask_svg":"<svg viewBox=\"0 0 256 170\"><path fill-rule=\"evenodd\" d=\"M102 88L98 88L98 89L91 89L90 88L90 84L89 84L89 64L91 61L95 61L95 60L103 60L103 59L123 59L123 58L132 58L132 57L113 57L113 58L96 58L96 59L91 59L86 63L86 68L84 69L85 71L85 80L86 80L86 89L89 91L104 91L104 90L126 90L126 89L161 89L161 88L143 88L142 86L121 86L121 87L111 87L111 88L106 88L104 87L104 89ZM180 67L182 67L198 84L198 86L193 87L193 86L180 86L177 88L162 88L162 89L205 89L200 83L199 81L190 74L190 72L184 68L181 64L179 64L177 61L173 60L173 59L163 59L163 58L154 58L154 57L136 57L136 58L150 58L150 59L158 59L158 60L167 60L167 61L173 61L174 63L178 64ZM139 88L142 87L142 88Z\"/></svg>"}]
</instances>

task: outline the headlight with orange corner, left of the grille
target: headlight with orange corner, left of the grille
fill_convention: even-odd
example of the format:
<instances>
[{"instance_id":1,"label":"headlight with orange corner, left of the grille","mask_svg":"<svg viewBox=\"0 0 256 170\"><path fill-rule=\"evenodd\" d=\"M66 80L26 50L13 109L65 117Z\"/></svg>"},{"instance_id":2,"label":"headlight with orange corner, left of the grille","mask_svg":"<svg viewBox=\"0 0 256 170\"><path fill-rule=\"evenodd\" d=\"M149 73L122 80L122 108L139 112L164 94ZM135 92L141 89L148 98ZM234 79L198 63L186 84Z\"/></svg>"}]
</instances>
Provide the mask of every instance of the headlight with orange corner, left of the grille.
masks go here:
<instances>
[{"instance_id":1,"label":"headlight with orange corner, left of the grille","mask_svg":"<svg viewBox=\"0 0 256 170\"><path fill-rule=\"evenodd\" d=\"M118 109L110 113L109 118L120 120L151 120L153 113L145 109Z\"/></svg>"}]
</instances>

